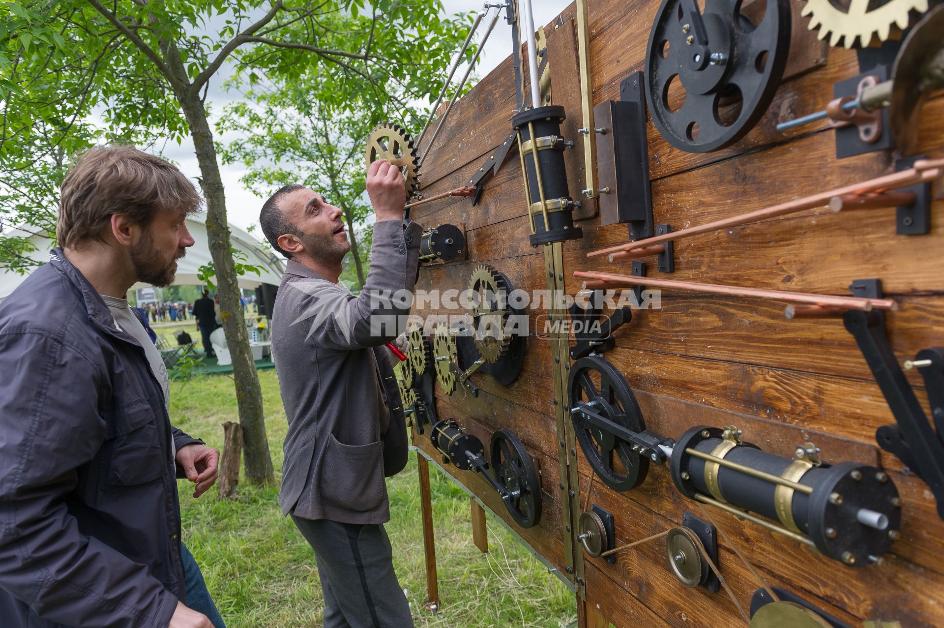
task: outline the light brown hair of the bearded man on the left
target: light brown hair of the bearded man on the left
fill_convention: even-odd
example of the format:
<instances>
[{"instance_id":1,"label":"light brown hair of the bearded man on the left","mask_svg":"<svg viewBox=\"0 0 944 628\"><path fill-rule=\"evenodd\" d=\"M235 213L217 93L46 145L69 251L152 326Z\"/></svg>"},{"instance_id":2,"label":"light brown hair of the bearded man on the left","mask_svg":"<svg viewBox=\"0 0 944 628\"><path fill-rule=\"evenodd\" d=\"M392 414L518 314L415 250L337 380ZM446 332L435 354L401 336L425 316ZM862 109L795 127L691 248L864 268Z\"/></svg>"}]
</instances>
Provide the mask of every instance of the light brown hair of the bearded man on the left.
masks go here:
<instances>
[{"instance_id":1,"label":"light brown hair of the bearded man on the left","mask_svg":"<svg viewBox=\"0 0 944 628\"><path fill-rule=\"evenodd\" d=\"M103 241L112 214L147 227L159 212L193 213L203 199L170 161L126 145L97 146L73 163L59 194L59 246Z\"/></svg>"}]
</instances>

